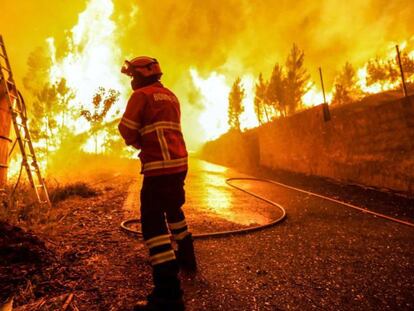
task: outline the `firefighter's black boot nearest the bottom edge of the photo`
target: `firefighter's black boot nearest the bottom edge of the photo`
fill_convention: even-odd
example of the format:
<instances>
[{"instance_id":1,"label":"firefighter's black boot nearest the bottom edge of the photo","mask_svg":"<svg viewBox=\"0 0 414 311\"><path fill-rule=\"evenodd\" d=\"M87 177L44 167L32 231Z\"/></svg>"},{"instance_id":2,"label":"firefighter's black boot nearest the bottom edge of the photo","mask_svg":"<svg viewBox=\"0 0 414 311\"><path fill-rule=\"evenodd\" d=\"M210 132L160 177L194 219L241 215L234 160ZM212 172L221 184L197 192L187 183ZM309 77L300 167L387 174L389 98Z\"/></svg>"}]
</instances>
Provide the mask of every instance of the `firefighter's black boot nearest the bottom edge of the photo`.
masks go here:
<instances>
[{"instance_id":1,"label":"firefighter's black boot nearest the bottom edge of the photo","mask_svg":"<svg viewBox=\"0 0 414 311\"><path fill-rule=\"evenodd\" d=\"M139 301L134 311L184 311L183 291L175 261L153 267L154 289L146 301Z\"/></svg>"}]
</instances>

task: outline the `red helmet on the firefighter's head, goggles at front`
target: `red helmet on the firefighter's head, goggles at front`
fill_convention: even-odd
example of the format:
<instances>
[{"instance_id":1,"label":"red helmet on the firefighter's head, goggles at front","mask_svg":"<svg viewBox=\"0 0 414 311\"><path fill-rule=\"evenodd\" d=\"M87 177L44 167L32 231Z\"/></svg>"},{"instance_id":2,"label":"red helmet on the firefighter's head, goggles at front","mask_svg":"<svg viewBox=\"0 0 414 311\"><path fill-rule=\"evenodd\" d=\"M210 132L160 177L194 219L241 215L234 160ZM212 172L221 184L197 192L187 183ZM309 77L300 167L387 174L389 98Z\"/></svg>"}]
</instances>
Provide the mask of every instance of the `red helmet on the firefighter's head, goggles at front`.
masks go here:
<instances>
[{"instance_id":1,"label":"red helmet on the firefighter's head, goggles at front","mask_svg":"<svg viewBox=\"0 0 414 311\"><path fill-rule=\"evenodd\" d=\"M162 75L161 67L155 58L148 56L138 56L128 61L126 60L121 68L121 72L134 77L140 75L144 78Z\"/></svg>"}]
</instances>

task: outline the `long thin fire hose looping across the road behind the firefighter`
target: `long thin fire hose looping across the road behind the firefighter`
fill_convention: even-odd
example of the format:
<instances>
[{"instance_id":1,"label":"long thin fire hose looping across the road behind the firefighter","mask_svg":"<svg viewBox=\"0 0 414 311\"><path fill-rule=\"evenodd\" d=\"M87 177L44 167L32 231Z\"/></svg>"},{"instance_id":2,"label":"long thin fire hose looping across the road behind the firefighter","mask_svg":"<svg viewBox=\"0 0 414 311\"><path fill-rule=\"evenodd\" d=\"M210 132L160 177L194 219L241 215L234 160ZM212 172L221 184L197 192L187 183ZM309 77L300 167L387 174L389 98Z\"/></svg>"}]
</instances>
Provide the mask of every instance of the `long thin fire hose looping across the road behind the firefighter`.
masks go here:
<instances>
[{"instance_id":1,"label":"long thin fire hose looping across the road behind the firefighter","mask_svg":"<svg viewBox=\"0 0 414 311\"><path fill-rule=\"evenodd\" d=\"M320 198L320 199L323 199L323 200L326 200L326 201L330 201L330 202L333 202L333 203L336 203L336 204L339 204L339 205L343 205L343 206L358 210L358 211L363 212L363 213L371 214L371 215L376 216L376 217L380 217L380 218L383 218L383 219L386 219L386 220L390 220L390 221L393 221L393 222L396 222L396 223L399 223L399 224L402 224L402 225L407 225L407 226L410 226L410 227L414 227L414 223L404 221L404 220L401 220L401 219L398 219L398 218L394 218L394 217L391 217L391 216L388 216L388 215L384 215L384 214L381 214L381 213L377 213L377 212L374 212L374 211L371 211L371 210L368 210L368 209L365 209L365 208L362 208L362 207L359 207L359 206L356 206L356 205L353 205L353 204L350 204L350 203L346 203L346 202L343 202L343 201L340 201L340 200L336 200L336 199L333 199L333 198L330 198L330 197L327 197L327 196L323 196L323 195L320 195L320 194L317 194L317 193L313 193L313 192L310 192L310 191L306 191L306 190L303 190L303 189L299 189L299 188L296 188L296 187L285 185L283 183L279 183L279 182L276 182L276 181L273 181L273 180L253 178L253 177L235 177L235 178L226 179L227 185L229 185L230 187L233 187L233 188L235 188L239 191L242 191L242 192L244 192L248 195L251 195L251 196L255 197L256 199L259 199L263 202L266 202L266 203L268 203L268 204L270 204L274 207L277 207L281 211L281 215L278 218L276 218L276 219L272 220L271 222L269 222L267 224L264 224L264 225L248 227L248 228L243 228L243 229L237 229L237 230L228 230L228 231L217 231L217 232L193 234L194 239L223 237L223 236L229 236L229 235L250 233L250 232L253 232L253 231L258 231L258 230L262 230L262 229L266 229L266 228L275 226L276 224L282 222L286 218L286 210L282 205L280 205L279 203L276 203L272 200L266 199L265 197L263 197L261 195L258 195L254 192L251 192L249 190L245 190L245 189L243 189L239 186L236 186L236 185L232 184L231 182L235 181L235 180L239 180L239 181L240 180L259 181L259 182L265 182L265 183L277 185L277 186L280 186L280 187L284 187L284 188L287 188L287 189L290 189L290 190L294 190L294 191L297 191L297 192L307 194L309 196L317 197L317 198ZM131 229L129 227L129 225L131 225L133 223L139 223L139 222L140 222L140 219L138 219L138 218L127 219L127 220L124 220L121 223L121 228L123 230L127 231L127 232L134 233L134 234L137 234L139 236L142 236L141 231L134 230L134 229Z\"/></svg>"}]
</instances>

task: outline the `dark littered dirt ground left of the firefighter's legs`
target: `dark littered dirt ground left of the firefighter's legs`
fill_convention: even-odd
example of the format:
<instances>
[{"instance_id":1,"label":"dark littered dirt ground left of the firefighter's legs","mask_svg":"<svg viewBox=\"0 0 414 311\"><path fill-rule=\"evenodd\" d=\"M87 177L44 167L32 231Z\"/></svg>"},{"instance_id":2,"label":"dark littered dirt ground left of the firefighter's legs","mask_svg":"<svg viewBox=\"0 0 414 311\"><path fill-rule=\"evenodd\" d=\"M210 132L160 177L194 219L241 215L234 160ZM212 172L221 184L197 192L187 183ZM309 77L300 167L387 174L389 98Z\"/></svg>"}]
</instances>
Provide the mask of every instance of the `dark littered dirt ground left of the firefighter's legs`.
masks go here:
<instances>
[{"instance_id":1,"label":"dark littered dirt ground left of the firefighter's legs","mask_svg":"<svg viewBox=\"0 0 414 311\"><path fill-rule=\"evenodd\" d=\"M128 310L145 297L151 282L143 244L119 227L128 186L139 173L133 165L72 177L97 194L54 204L49 222L30 232L1 223L2 301L14 296L17 310L42 303L40 310L60 310L74 294L67 310Z\"/></svg>"}]
</instances>

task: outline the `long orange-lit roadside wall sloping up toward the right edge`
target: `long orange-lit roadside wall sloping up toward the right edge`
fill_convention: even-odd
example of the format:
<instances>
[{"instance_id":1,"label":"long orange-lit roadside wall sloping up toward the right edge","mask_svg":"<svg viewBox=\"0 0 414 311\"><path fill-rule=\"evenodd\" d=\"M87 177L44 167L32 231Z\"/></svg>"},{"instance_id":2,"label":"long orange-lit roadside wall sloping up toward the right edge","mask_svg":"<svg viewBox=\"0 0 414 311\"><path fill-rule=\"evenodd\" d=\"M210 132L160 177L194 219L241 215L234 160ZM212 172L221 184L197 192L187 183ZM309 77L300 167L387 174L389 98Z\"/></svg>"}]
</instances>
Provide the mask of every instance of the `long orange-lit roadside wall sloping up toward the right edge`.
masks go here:
<instances>
[{"instance_id":1,"label":"long orange-lit roadside wall sloping up toward the right edge","mask_svg":"<svg viewBox=\"0 0 414 311\"><path fill-rule=\"evenodd\" d=\"M329 108L330 118L319 105L245 133L227 133L207 143L202 156L233 167L282 169L414 195L414 96Z\"/></svg>"}]
</instances>

